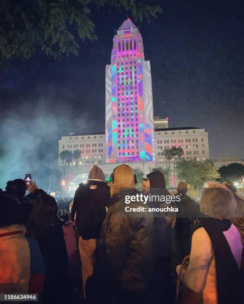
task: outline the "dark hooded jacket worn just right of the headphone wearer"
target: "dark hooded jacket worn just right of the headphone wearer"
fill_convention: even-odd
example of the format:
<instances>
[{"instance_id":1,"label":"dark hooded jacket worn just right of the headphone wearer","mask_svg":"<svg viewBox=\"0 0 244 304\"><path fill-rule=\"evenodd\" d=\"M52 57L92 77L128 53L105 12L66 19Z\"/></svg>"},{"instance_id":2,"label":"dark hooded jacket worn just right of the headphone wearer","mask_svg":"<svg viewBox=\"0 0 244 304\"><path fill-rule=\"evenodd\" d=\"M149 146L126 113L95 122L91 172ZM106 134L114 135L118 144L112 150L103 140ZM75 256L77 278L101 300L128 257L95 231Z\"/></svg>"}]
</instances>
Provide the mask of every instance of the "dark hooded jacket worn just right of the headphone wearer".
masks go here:
<instances>
[{"instance_id":1,"label":"dark hooded jacket worn just right of the headphone wearer","mask_svg":"<svg viewBox=\"0 0 244 304\"><path fill-rule=\"evenodd\" d=\"M159 172L151 172L147 175L150 180L151 195L170 195L169 191L165 188L164 175ZM175 204L162 204L160 202L149 202L149 207L159 208L171 206ZM159 257L170 257L173 250L173 228L172 221L175 215L157 215L154 213L154 253Z\"/></svg>"}]
</instances>

